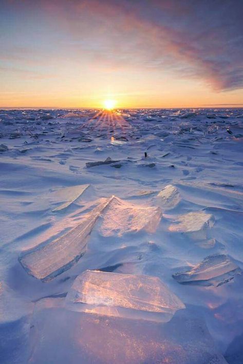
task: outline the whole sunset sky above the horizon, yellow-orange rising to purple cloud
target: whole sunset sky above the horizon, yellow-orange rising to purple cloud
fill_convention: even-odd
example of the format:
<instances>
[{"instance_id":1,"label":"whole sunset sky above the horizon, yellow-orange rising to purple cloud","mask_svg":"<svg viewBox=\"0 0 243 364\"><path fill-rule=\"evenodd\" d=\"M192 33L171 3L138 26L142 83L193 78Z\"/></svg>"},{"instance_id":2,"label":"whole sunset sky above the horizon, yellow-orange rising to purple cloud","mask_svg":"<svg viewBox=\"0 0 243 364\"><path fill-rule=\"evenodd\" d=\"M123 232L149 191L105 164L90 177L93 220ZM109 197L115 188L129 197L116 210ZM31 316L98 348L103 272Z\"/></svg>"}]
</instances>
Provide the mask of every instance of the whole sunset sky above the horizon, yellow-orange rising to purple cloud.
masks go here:
<instances>
[{"instance_id":1,"label":"whole sunset sky above the horizon, yellow-orange rising to purple cloud","mask_svg":"<svg viewBox=\"0 0 243 364\"><path fill-rule=\"evenodd\" d=\"M0 107L243 106L243 0L0 0Z\"/></svg>"}]
</instances>

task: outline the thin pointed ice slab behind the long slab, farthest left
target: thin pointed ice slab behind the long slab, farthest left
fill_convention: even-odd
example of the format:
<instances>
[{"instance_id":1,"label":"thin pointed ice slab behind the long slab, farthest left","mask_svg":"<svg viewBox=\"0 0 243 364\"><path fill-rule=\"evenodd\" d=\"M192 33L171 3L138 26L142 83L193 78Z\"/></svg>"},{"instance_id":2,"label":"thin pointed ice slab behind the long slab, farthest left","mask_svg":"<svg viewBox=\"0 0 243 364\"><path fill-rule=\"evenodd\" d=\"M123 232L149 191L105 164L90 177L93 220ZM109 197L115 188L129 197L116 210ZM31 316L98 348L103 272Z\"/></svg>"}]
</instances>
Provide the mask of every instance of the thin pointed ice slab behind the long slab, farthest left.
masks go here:
<instances>
[{"instance_id":1,"label":"thin pointed ice slab behind the long slab, farthest left","mask_svg":"<svg viewBox=\"0 0 243 364\"><path fill-rule=\"evenodd\" d=\"M55 199L59 199L61 201L65 201L58 207L55 207L52 211L61 211L66 207L70 206L73 202L75 202L87 188L89 184L77 185L72 187L61 188L58 191L54 191L51 193L51 197Z\"/></svg>"}]
</instances>

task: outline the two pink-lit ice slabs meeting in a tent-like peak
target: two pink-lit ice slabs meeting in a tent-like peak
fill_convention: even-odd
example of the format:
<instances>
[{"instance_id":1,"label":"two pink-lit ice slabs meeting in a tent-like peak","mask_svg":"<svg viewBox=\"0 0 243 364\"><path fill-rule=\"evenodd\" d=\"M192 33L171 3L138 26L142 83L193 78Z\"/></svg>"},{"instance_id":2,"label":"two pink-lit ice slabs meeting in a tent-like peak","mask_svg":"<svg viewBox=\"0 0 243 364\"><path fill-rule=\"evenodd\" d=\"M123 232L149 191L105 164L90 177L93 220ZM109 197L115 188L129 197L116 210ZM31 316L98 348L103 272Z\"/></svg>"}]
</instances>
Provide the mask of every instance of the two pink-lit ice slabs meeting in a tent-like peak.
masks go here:
<instances>
[{"instance_id":1,"label":"two pink-lit ice slabs meeting in a tent-like peak","mask_svg":"<svg viewBox=\"0 0 243 364\"><path fill-rule=\"evenodd\" d=\"M115 196L103 198L82 216L77 226L57 239L25 251L19 260L30 275L47 281L70 269L85 254L90 234L98 220L101 222L97 227L99 233L108 237L141 230L153 233L161 217L160 207L141 207Z\"/></svg>"}]
</instances>

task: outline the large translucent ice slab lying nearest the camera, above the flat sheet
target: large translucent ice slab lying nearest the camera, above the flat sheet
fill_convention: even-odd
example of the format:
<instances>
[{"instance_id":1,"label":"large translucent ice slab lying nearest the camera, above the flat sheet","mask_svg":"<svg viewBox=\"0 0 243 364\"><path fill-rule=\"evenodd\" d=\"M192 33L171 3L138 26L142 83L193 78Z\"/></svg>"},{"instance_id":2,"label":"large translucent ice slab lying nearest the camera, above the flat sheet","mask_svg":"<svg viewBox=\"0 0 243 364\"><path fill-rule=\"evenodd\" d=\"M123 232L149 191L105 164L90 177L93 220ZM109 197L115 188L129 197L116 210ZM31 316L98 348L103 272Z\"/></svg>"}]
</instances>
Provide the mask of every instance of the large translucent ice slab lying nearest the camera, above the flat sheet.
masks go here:
<instances>
[{"instance_id":1,"label":"large translucent ice slab lying nearest the camera, above the flat sheet","mask_svg":"<svg viewBox=\"0 0 243 364\"><path fill-rule=\"evenodd\" d=\"M66 304L73 311L107 316L134 318L146 311L143 318L159 321L169 321L177 310L185 308L158 277L100 271L85 271L78 276Z\"/></svg>"}]
</instances>

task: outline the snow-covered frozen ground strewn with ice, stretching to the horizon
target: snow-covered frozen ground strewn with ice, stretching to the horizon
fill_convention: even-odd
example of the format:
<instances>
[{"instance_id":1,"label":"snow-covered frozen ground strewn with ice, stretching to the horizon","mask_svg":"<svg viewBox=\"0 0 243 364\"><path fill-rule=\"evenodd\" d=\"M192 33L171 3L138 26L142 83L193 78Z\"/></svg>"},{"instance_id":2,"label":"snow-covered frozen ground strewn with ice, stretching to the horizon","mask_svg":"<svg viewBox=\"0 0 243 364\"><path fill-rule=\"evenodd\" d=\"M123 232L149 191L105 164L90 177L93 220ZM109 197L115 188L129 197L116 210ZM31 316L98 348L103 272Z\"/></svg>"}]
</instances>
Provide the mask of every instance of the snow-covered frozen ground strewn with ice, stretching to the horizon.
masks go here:
<instances>
[{"instance_id":1,"label":"snow-covered frozen ground strewn with ice, stretching to the horizon","mask_svg":"<svg viewBox=\"0 0 243 364\"><path fill-rule=\"evenodd\" d=\"M243 362L242 109L0 125L1 364Z\"/></svg>"}]
</instances>

